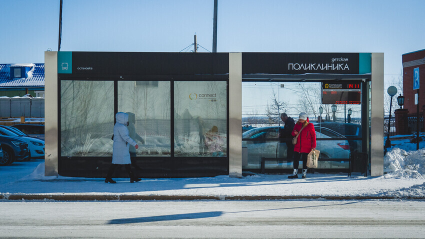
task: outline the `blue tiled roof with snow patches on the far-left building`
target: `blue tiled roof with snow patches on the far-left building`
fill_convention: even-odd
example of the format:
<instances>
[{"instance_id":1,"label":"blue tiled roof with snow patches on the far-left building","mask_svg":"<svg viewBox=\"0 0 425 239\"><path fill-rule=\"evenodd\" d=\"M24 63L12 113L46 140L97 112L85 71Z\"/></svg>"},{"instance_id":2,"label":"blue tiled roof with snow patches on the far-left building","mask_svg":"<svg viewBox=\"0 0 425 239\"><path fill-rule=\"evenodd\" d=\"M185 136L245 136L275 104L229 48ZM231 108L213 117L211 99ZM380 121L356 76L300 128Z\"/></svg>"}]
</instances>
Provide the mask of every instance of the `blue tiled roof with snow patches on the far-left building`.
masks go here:
<instances>
[{"instance_id":1,"label":"blue tiled roof with snow patches on the far-left building","mask_svg":"<svg viewBox=\"0 0 425 239\"><path fill-rule=\"evenodd\" d=\"M26 78L11 78L10 67L31 69ZM44 63L0 64L0 87L44 87Z\"/></svg>"}]
</instances>

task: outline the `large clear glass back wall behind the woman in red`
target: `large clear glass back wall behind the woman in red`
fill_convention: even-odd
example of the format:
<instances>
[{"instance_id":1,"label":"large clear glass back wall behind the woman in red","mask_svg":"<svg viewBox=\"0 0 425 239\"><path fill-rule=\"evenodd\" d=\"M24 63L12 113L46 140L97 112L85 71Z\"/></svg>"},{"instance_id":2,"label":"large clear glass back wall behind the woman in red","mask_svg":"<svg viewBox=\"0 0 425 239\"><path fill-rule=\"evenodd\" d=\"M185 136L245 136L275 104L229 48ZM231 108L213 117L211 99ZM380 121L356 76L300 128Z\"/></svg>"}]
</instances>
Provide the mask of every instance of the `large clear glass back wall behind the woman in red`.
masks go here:
<instances>
[{"instance_id":1,"label":"large clear glass back wall behind the woman in red","mask_svg":"<svg viewBox=\"0 0 425 239\"><path fill-rule=\"evenodd\" d=\"M283 112L295 122L300 112L307 113L316 131L319 168L348 168L350 152L361 151L361 106L322 104L321 85L321 82L242 82L242 131L247 130L242 133L242 147L247 148L247 164L243 169L260 168L261 157L276 158L265 161L265 168L292 167L286 143L279 139L279 131L285 124L279 117Z\"/></svg>"}]
</instances>

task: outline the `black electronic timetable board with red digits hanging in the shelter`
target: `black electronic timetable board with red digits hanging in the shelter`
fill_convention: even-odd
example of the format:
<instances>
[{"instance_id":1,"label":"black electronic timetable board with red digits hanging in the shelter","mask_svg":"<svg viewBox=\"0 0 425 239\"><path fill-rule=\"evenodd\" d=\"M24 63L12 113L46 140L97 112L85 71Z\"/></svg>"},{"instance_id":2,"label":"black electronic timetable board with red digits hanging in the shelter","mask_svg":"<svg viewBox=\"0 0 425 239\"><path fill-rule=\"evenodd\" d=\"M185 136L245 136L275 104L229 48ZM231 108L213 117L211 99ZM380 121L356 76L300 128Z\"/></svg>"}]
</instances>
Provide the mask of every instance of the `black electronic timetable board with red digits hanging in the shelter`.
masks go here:
<instances>
[{"instance_id":1,"label":"black electronic timetable board with red digits hanging in the shelter","mask_svg":"<svg viewBox=\"0 0 425 239\"><path fill-rule=\"evenodd\" d=\"M322 104L360 104L360 82L322 82Z\"/></svg>"}]
</instances>

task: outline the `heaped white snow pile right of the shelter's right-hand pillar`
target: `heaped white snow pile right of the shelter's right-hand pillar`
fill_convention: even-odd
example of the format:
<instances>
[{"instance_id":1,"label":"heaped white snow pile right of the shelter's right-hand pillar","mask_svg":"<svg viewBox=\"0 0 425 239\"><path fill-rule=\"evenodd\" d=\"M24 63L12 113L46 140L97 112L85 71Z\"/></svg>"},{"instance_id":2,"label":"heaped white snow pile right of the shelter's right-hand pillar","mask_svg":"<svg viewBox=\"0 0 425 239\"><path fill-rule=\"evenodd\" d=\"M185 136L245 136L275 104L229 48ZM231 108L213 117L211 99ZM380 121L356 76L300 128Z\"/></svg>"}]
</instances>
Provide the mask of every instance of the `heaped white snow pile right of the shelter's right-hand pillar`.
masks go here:
<instances>
[{"instance_id":1,"label":"heaped white snow pile right of the shelter's right-hand pillar","mask_svg":"<svg viewBox=\"0 0 425 239\"><path fill-rule=\"evenodd\" d=\"M386 177L425 178L425 149L393 148L383 157L383 169Z\"/></svg>"}]
</instances>

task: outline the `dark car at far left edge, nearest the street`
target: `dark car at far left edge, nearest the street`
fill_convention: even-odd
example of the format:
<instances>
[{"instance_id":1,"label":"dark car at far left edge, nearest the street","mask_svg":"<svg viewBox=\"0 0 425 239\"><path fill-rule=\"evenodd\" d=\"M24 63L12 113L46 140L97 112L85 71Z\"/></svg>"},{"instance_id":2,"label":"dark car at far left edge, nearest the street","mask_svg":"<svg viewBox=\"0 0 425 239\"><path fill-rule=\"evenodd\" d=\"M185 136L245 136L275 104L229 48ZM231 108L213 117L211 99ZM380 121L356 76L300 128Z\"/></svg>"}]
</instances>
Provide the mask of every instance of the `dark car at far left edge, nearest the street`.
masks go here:
<instances>
[{"instance_id":1,"label":"dark car at far left edge, nearest the street","mask_svg":"<svg viewBox=\"0 0 425 239\"><path fill-rule=\"evenodd\" d=\"M0 166L8 165L15 159L25 160L29 156L28 143L17 136L0 135L0 144L3 151Z\"/></svg>"}]
</instances>

